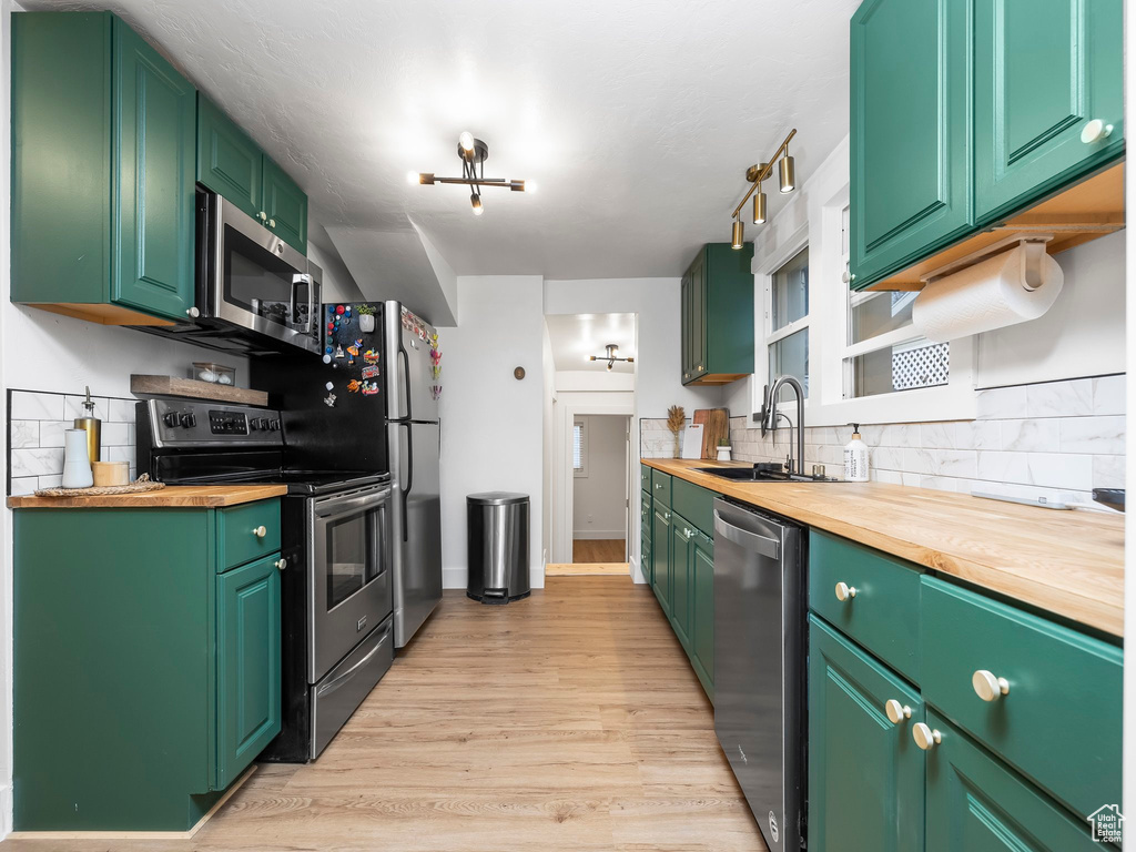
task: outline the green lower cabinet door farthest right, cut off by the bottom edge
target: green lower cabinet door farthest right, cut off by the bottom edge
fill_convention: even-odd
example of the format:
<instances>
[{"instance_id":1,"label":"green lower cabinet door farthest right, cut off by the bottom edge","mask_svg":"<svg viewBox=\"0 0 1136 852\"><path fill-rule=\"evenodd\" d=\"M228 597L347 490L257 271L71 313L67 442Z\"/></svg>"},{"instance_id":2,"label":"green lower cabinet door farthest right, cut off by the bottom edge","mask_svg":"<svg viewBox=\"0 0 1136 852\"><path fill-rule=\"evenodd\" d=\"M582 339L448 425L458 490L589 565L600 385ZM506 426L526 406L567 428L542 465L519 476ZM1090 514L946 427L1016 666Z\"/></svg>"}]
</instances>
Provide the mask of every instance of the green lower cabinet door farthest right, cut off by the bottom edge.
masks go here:
<instances>
[{"instance_id":1,"label":"green lower cabinet door farthest right, cut off by the bottom edge","mask_svg":"<svg viewBox=\"0 0 1136 852\"><path fill-rule=\"evenodd\" d=\"M928 711L927 725L939 732L941 742L927 752L926 852L1114 849L1094 842L1086 822L1072 818L934 711ZM1045 745L1038 743L1039 749ZM844 835L845 840L849 836L854 832Z\"/></svg>"}]
</instances>

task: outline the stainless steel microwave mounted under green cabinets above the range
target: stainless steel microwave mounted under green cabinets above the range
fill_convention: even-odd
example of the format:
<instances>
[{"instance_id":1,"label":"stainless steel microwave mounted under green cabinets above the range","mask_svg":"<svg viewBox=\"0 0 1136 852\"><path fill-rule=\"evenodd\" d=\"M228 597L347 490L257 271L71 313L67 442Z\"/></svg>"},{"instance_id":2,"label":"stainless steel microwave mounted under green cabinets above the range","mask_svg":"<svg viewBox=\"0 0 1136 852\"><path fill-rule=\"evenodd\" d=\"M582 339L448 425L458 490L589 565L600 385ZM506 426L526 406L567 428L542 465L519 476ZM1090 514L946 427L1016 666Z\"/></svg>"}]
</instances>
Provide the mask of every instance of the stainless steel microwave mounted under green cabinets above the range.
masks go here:
<instances>
[{"instance_id":1,"label":"stainless steel microwave mounted under green cabinets above the range","mask_svg":"<svg viewBox=\"0 0 1136 852\"><path fill-rule=\"evenodd\" d=\"M323 270L231 201L197 191L194 303L144 331L223 351L320 351Z\"/></svg>"}]
</instances>

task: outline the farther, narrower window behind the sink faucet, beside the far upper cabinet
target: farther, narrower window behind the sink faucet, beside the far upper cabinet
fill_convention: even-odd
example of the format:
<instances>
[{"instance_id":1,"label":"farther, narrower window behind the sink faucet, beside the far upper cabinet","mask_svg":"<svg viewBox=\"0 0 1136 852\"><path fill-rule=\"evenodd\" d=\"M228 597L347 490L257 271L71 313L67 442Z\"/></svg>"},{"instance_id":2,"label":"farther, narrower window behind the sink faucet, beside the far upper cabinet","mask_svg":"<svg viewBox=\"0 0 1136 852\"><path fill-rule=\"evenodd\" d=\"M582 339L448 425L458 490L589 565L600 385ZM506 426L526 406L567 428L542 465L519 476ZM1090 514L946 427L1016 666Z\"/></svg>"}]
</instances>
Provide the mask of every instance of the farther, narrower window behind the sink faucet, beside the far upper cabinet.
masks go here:
<instances>
[{"instance_id":1,"label":"farther, narrower window behind the sink faucet, beside the far upper cabinet","mask_svg":"<svg viewBox=\"0 0 1136 852\"><path fill-rule=\"evenodd\" d=\"M801 381L809 395L809 248L805 247L769 276L766 323L769 378L790 375ZM782 389L778 402L792 399Z\"/></svg>"}]
</instances>

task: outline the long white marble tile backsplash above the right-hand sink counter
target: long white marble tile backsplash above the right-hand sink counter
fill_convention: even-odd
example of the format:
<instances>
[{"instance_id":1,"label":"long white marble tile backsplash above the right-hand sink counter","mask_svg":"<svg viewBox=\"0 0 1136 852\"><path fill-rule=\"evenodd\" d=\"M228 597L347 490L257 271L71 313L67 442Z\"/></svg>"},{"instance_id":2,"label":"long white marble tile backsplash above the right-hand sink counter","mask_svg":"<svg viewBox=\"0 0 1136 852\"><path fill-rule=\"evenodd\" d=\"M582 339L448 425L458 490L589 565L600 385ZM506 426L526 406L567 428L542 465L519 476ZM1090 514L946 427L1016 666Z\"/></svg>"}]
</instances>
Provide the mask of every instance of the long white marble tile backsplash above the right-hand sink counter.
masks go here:
<instances>
[{"instance_id":1,"label":"long white marble tile backsplash above the right-hand sink counter","mask_svg":"<svg viewBox=\"0 0 1136 852\"><path fill-rule=\"evenodd\" d=\"M784 461L790 431L762 437L752 426L730 418L734 459ZM640 434L644 458L675 457L666 420L643 420ZM1125 487L1125 376L979 391L975 420L864 425L860 434L877 482L1091 500L1093 488ZM805 428L805 467L841 476L851 437L847 426Z\"/></svg>"}]
</instances>

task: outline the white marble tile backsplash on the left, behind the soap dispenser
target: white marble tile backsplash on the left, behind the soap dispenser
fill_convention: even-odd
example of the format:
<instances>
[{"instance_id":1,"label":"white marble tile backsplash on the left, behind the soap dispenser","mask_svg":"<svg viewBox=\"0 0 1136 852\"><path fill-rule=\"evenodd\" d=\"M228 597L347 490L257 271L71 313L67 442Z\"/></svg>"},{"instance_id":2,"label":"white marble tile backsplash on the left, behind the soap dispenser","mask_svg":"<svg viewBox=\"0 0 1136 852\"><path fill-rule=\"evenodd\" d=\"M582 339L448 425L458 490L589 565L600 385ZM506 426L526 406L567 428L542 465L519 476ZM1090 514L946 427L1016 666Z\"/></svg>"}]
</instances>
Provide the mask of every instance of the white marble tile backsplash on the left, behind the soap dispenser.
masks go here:
<instances>
[{"instance_id":1,"label":"white marble tile backsplash on the left, behind the soap dispenser","mask_svg":"<svg viewBox=\"0 0 1136 852\"><path fill-rule=\"evenodd\" d=\"M58 487L64 469L64 431L85 417L82 394L11 391L8 394L8 493L31 494ZM134 467L134 406L137 400L92 396L102 420L102 460Z\"/></svg>"}]
</instances>

